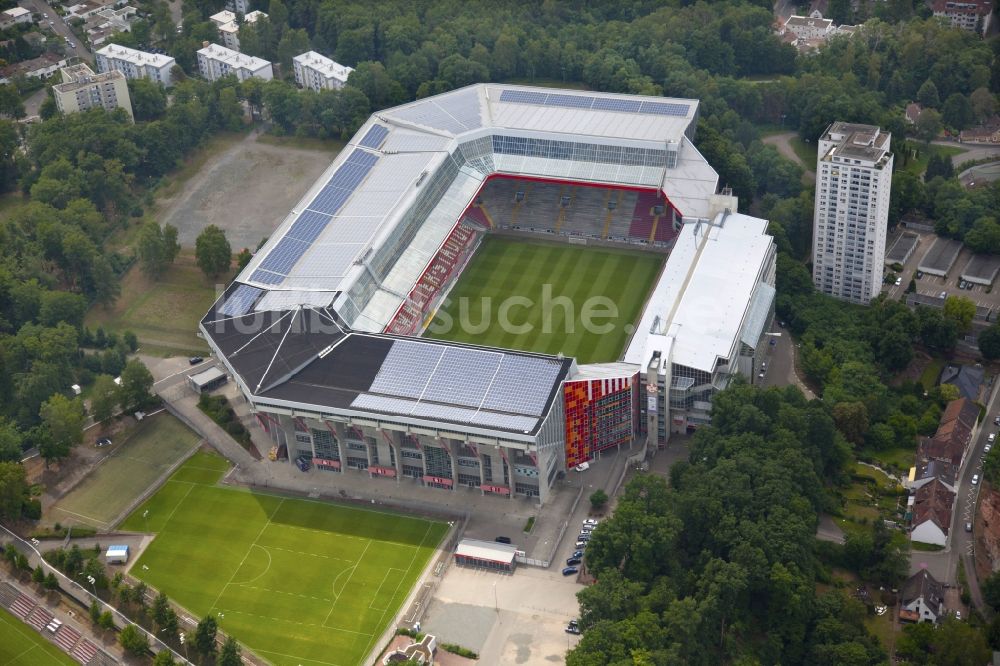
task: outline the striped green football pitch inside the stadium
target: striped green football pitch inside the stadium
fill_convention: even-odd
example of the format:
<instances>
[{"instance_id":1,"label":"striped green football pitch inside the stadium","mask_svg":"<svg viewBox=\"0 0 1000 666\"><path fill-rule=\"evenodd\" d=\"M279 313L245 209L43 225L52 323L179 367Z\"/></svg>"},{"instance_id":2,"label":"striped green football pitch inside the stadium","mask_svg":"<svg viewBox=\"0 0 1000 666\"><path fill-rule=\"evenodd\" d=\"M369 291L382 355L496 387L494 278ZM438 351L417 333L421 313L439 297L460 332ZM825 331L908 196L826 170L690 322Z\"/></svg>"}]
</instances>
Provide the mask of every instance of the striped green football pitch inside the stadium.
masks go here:
<instances>
[{"instance_id":1,"label":"striped green football pitch inside the stadium","mask_svg":"<svg viewBox=\"0 0 1000 666\"><path fill-rule=\"evenodd\" d=\"M662 255L487 236L425 335L616 361Z\"/></svg>"}]
</instances>

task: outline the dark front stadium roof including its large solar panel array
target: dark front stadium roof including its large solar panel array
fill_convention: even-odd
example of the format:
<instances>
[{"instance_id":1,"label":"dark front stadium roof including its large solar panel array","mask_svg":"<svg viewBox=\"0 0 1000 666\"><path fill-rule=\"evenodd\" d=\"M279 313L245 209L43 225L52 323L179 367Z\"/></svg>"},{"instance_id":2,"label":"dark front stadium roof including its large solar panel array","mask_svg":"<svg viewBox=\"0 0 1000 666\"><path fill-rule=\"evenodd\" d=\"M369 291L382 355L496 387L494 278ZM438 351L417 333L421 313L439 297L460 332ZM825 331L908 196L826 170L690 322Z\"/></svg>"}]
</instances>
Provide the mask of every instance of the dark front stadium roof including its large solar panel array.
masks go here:
<instances>
[{"instance_id":1,"label":"dark front stadium roof including its large solar panel array","mask_svg":"<svg viewBox=\"0 0 1000 666\"><path fill-rule=\"evenodd\" d=\"M255 400L324 414L463 430L537 432L573 360L350 331L324 307L255 312L236 285L202 330ZM247 301L249 299L249 302ZM246 314L227 314L249 307Z\"/></svg>"}]
</instances>

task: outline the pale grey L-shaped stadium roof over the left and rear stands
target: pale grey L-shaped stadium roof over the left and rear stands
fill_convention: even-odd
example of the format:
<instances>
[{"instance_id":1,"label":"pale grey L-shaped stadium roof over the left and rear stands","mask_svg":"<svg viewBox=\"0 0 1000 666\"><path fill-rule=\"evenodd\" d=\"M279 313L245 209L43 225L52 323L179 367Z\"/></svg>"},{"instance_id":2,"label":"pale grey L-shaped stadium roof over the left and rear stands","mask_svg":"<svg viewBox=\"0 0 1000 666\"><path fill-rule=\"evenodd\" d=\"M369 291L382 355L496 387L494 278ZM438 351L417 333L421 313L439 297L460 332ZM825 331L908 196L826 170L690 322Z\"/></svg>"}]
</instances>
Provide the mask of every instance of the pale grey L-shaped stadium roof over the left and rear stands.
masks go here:
<instances>
[{"instance_id":1,"label":"pale grey L-shaped stadium roof over the left and rear stands","mask_svg":"<svg viewBox=\"0 0 1000 666\"><path fill-rule=\"evenodd\" d=\"M268 290L347 291L420 208L448 224L425 224L399 270L379 276L374 300L384 304L366 311L365 328L381 330L397 294L412 288L496 173L662 188L685 218L707 217L718 174L691 143L697 116L697 100L502 84L377 112L237 279ZM425 211L427 183L448 169L457 173Z\"/></svg>"}]
</instances>

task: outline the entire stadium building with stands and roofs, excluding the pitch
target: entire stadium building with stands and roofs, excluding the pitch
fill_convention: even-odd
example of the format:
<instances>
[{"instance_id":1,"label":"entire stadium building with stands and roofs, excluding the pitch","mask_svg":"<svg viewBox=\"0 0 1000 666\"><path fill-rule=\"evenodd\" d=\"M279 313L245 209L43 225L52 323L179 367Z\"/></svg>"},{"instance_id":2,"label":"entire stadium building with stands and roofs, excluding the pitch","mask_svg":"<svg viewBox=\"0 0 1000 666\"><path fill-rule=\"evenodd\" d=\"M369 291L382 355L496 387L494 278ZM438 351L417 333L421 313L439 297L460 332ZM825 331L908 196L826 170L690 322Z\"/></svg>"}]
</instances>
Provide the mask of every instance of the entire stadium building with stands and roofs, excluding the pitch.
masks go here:
<instances>
[{"instance_id":1,"label":"entire stadium building with stands and roofs, excluding the pitch","mask_svg":"<svg viewBox=\"0 0 1000 666\"><path fill-rule=\"evenodd\" d=\"M662 447L756 377L774 244L719 193L697 116L696 100L500 84L380 111L201 333L289 460L544 502L561 472ZM663 252L622 357L419 337L491 233Z\"/></svg>"}]
</instances>

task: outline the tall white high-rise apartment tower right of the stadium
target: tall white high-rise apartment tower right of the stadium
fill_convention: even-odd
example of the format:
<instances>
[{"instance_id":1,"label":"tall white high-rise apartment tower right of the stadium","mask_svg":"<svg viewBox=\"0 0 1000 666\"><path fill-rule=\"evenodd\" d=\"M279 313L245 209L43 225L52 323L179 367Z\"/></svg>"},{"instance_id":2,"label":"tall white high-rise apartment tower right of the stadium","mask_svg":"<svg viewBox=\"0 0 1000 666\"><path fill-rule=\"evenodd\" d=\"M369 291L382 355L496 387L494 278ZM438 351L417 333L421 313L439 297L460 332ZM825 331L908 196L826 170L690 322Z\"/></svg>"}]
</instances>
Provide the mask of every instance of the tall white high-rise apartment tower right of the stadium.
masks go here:
<instances>
[{"instance_id":1,"label":"tall white high-rise apartment tower right of the stadium","mask_svg":"<svg viewBox=\"0 0 1000 666\"><path fill-rule=\"evenodd\" d=\"M819 139L813 216L813 284L867 304L882 288L892 186L892 135L835 122Z\"/></svg>"}]
</instances>

